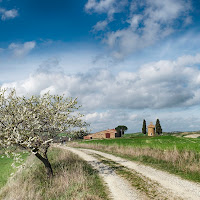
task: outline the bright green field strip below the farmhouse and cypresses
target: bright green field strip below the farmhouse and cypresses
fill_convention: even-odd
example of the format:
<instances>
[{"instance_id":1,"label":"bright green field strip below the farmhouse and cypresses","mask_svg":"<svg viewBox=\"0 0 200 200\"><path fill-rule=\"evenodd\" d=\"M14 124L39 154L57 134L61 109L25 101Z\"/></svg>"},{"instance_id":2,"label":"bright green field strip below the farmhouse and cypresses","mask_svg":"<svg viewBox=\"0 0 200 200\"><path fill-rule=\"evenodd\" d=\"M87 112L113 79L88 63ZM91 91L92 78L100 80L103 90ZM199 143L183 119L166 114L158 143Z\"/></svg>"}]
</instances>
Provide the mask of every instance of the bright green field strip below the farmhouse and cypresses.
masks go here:
<instances>
[{"instance_id":1,"label":"bright green field strip below the farmhouse and cypresses","mask_svg":"<svg viewBox=\"0 0 200 200\"><path fill-rule=\"evenodd\" d=\"M152 148L162 150L190 150L200 152L200 138L184 138L175 136L134 136L126 134L123 138L82 141L87 144L117 145L136 148Z\"/></svg>"}]
</instances>

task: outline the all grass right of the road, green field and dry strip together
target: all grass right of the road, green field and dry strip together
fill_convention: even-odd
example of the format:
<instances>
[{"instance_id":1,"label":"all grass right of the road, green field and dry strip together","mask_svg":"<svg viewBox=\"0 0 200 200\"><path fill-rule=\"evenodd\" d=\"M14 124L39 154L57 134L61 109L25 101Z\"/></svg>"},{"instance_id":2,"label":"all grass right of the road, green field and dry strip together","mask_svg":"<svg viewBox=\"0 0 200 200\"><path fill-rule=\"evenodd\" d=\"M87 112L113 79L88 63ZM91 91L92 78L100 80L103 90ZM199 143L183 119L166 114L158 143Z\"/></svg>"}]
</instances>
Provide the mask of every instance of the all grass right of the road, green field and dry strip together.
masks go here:
<instances>
[{"instance_id":1,"label":"all grass right of the road, green field and dry strip together","mask_svg":"<svg viewBox=\"0 0 200 200\"><path fill-rule=\"evenodd\" d=\"M135 137L87 142L70 142L69 146L111 153L184 179L200 182L200 140L173 136Z\"/></svg>"}]
</instances>

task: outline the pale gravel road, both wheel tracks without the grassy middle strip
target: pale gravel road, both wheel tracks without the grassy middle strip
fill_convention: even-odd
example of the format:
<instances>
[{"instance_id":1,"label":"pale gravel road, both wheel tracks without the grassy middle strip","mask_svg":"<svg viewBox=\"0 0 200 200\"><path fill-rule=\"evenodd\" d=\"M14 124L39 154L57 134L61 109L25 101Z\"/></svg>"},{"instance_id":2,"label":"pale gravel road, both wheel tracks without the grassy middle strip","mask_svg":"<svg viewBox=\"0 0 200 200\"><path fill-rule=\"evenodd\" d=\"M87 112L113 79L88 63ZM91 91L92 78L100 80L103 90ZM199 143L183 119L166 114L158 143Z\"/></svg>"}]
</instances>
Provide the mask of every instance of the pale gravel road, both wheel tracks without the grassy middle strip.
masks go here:
<instances>
[{"instance_id":1,"label":"pale gravel road, both wheel tracks without the grassy middle strip","mask_svg":"<svg viewBox=\"0 0 200 200\"><path fill-rule=\"evenodd\" d=\"M61 147L78 154L81 158L88 161L95 169L97 169L104 181L108 185L112 199L134 200L134 199L151 199L144 196L144 193L131 187L125 179L118 176L111 168L98 161L95 155L102 156L115 163L118 163L127 169L139 173L141 176L147 177L158 183L158 190L162 191L164 197L155 199L184 199L184 200L200 200L200 184L196 184L187 180L183 180L175 175L163 172L152 167L147 167L136 162L128 161L111 154L103 153L90 149L75 149L71 147ZM151 183L146 183L151 184Z\"/></svg>"}]
</instances>

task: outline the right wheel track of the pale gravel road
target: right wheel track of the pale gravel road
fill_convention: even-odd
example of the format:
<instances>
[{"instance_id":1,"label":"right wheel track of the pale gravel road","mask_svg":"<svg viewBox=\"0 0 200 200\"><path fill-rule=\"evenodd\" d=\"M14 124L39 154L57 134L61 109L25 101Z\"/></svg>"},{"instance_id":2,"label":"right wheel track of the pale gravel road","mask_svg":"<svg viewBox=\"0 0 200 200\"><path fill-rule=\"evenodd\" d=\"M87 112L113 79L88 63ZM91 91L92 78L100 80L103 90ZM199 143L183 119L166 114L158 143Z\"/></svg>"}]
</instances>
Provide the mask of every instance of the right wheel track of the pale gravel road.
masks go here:
<instances>
[{"instance_id":1,"label":"right wheel track of the pale gravel road","mask_svg":"<svg viewBox=\"0 0 200 200\"><path fill-rule=\"evenodd\" d=\"M159 183L163 188L172 192L174 195L185 200L200 200L200 184L181 179L175 175L154 169L149 166L141 165L136 162L113 156L91 149L81 149L84 152L91 152L110 159L122 166L135 170L136 172ZM170 198L169 198L170 199Z\"/></svg>"}]
</instances>

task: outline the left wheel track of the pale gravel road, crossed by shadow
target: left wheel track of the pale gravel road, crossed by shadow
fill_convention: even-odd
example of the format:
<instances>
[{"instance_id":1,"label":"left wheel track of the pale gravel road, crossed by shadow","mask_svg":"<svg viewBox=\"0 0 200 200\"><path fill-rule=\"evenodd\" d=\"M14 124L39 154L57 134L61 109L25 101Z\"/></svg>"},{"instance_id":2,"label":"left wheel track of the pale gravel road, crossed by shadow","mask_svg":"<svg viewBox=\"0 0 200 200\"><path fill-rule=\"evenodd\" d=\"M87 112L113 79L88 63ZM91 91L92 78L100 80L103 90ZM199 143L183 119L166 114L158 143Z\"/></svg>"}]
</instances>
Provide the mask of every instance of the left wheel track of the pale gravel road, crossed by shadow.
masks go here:
<instances>
[{"instance_id":1,"label":"left wheel track of the pale gravel road, crossed by shadow","mask_svg":"<svg viewBox=\"0 0 200 200\"><path fill-rule=\"evenodd\" d=\"M63 148L69 150L82 159L86 160L90 163L96 170L99 171L100 176L103 177L108 189L110 191L110 197L114 200L145 200L146 198L141 196L134 188L130 186L130 184L118 176L111 168L107 165L99 162L96 158L88 153L85 153L82 150L64 147L64 146L57 146L59 148Z\"/></svg>"}]
</instances>

